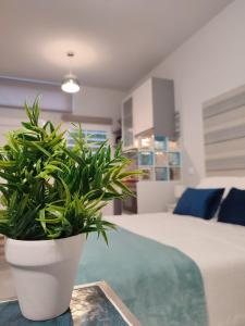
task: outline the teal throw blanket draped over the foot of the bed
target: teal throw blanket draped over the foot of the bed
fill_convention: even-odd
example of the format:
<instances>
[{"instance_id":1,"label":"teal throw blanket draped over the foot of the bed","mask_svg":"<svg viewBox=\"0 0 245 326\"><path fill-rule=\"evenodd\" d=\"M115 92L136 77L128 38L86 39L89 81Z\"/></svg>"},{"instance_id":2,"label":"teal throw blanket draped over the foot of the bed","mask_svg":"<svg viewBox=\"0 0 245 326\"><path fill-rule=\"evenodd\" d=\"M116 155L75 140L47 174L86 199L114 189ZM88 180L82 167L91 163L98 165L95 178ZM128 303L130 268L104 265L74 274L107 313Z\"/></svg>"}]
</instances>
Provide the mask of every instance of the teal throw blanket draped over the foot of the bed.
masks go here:
<instances>
[{"instance_id":1,"label":"teal throw blanket draped over the foot of the bed","mask_svg":"<svg viewBox=\"0 0 245 326\"><path fill-rule=\"evenodd\" d=\"M106 280L146 326L207 326L205 292L196 263L175 248L125 229L89 235L76 284Z\"/></svg>"}]
</instances>

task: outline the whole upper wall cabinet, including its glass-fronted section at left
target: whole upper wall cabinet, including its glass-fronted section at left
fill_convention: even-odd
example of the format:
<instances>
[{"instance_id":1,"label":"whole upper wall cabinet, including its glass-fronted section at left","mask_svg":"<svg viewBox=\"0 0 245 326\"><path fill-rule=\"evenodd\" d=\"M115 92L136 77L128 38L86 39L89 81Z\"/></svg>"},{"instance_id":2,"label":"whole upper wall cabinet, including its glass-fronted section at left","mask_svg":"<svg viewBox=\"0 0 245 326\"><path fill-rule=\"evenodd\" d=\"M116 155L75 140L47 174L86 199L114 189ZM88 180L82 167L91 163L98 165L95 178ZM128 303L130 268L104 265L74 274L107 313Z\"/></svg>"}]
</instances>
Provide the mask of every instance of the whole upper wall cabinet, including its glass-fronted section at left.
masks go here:
<instances>
[{"instance_id":1,"label":"whole upper wall cabinet, including its glass-fronted section at left","mask_svg":"<svg viewBox=\"0 0 245 326\"><path fill-rule=\"evenodd\" d=\"M156 136L175 136L173 80L152 77L123 102L123 149L134 148L135 138L149 130Z\"/></svg>"}]
</instances>

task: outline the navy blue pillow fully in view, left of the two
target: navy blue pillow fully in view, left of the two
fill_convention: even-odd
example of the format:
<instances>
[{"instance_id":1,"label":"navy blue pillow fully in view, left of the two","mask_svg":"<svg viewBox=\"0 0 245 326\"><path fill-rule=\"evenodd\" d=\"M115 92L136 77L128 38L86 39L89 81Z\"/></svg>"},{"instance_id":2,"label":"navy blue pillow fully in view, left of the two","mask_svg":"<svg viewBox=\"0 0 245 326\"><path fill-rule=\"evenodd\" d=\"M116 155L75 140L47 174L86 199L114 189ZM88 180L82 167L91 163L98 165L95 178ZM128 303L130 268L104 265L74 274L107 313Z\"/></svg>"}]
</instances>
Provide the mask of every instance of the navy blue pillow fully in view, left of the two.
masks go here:
<instances>
[{"instance_id":1,"label":"navy blue pillow fully in view, left of the two","mask_svg":"<svg viewBox=\"0 0 245 326\"><path fill-rule=\"evenodd\" d=\"M173 214L192 215L210 220L218 210L223 192L224 188L187 188L180 198Z\"/></svg>"}]
</instances>

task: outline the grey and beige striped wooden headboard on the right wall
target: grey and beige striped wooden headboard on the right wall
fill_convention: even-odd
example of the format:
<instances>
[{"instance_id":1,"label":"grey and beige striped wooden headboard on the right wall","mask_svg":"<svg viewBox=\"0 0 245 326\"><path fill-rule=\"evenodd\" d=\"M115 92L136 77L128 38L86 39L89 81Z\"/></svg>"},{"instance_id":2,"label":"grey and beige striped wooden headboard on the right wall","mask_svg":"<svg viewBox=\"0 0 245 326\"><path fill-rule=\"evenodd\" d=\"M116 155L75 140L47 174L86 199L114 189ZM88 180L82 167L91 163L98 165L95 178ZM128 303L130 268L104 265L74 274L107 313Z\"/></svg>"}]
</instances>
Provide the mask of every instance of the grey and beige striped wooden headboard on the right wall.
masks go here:
<instances>
[{"instance_id":1,"label":"grey and beige striped wooden headboard on the right wall","mask_svg":"<svg viewBox=\"0 0 245 326\"><path fill-rule=\"evenodd\" d=\"M207 176L245 176L245 86L203 105Z\"/></svg>"}]
</instances>

